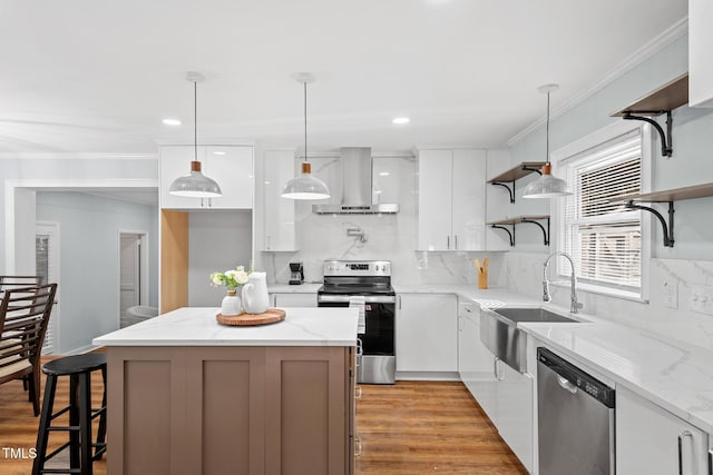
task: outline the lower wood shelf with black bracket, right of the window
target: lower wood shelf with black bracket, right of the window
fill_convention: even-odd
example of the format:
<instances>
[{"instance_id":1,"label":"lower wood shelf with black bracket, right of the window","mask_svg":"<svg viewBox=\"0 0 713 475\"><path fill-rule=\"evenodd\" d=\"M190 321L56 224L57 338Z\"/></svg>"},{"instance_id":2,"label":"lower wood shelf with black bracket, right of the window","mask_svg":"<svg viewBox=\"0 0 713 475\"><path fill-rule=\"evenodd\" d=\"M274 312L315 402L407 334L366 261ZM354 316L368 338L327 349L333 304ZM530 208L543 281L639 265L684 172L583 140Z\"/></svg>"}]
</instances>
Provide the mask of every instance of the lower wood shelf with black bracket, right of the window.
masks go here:
<instances>
[{"instance_id":1,"label":"lower wood shelf with black bracket, right of the window","mask_svg":"<svg viewBox=\"0 0 713 475\"><path fill-rule=\"evenodd\" d=\"M706 198L713 196L713 182L694 185L691 187L675 188L665 191L654 191L639 195L617 196L611 198L611 202L624 202L624 206L628 209L641 209L642 211L648 211L654 215L664 232L664 246L673 247L673 208L674 201L683 201L686 199ZM667 202L668 204L668 220L664 219L663 215L648 206L636 205L637 202Z\"/></svg>"}]
</instances>

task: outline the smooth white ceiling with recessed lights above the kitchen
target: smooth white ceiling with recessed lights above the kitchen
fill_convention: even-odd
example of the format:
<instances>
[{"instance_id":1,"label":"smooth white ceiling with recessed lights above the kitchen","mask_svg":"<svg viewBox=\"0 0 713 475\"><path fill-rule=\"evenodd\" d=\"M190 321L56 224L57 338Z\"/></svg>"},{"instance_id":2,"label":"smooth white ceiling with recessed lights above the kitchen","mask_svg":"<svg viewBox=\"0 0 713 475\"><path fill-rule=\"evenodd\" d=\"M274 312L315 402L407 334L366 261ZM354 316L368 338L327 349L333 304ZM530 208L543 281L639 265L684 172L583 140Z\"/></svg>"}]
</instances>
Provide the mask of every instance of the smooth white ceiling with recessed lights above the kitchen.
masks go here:
<instances>
[{"instance_id":1,"label":"smooth white ceiling with recessed lights above the kitchen","mask_svg":"<svg viewBox=\"0 0 713 475\"><path fill-rule=\"evenodd\" d=\"M686 0L62 0L0 3L0 152L492 147L687 14ZM393 126L395 116L411 117ZM184 125L169 128L164 117Z\"/></svg>"}]
</instances>

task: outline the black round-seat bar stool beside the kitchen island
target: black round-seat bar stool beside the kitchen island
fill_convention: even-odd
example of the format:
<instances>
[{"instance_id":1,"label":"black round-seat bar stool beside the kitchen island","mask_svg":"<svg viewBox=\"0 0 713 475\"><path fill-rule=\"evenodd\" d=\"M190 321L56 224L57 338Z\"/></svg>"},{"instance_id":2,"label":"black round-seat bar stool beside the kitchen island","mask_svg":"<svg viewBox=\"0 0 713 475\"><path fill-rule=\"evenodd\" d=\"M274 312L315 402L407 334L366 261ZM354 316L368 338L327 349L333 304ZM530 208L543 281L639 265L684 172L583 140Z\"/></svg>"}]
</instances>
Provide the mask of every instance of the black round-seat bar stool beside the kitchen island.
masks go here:
<instances>
[{"instance_id":1,"label":"black round-seat bar stool beside the kitchen island","mask_svg":"<svg viewBox=\"0 0 713 475\"><path fill-rule=\"evenodd\" d=\"M91 408L91 373L101 370L104 379L104 397L101 407ZM107 449L106 445L106 414L107 414L107 356L106 354L89 353L86 355L68 356L55 359L42 366L47 375L45 399L40 428L37 434L37 456L32 464L32 475L62 473L91 475L91 464L101 458ZM69 406L52 414L57 378L69 376ZM52 426L51 422L69 412L68 426ZM91 420L99 417L97 442L91 441ZM62 444L47 455L49 433L65 431L69 433L69 442ZM69 447L69 464L67 468L45 468L45 463ZM91 449L95 448L95 453Z\"/></svg>"}]
</instances>

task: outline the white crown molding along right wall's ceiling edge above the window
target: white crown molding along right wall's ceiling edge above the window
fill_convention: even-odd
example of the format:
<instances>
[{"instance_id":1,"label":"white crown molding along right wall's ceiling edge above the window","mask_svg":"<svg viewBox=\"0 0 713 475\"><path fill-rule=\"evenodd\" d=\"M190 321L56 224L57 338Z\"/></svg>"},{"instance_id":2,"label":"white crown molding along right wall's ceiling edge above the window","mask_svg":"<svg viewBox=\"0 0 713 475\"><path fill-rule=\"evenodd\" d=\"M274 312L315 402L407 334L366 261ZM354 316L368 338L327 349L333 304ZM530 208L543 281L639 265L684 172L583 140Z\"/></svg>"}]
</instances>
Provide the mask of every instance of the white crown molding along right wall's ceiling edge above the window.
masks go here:
<instances>
[{"instance_id":1,"label":"white crown molding along right wall's ceiling edge above the window","mask_svg":"<svg viewBox=\"0 0 713 475\"><path fill-rule=\"evenodd\" d=\"M634 69L636 66L644 62L646 59L656 55L665 47L677 40L678 38L685 36L688 32L688 17L684 17L668 29L664 30L656 38L644 44L642 48L636 50L633 55L626 58L624 61L618 63L614 69L609 70L604 77L602 77L598 81L594 82L592 86L583 90L582 92L573 96L557 108L554 108L550 113L550 120L564 115L565 112L574 109L579 103L584 102L586 99L590 98L626 72ZM545 123L547 119L545 117L538 119L536 122L530 123L525 129L512 136L506 145L508 147L512 147L515 144L522 140L535 129L539 128Z\"/></svg>"}]
</instances>

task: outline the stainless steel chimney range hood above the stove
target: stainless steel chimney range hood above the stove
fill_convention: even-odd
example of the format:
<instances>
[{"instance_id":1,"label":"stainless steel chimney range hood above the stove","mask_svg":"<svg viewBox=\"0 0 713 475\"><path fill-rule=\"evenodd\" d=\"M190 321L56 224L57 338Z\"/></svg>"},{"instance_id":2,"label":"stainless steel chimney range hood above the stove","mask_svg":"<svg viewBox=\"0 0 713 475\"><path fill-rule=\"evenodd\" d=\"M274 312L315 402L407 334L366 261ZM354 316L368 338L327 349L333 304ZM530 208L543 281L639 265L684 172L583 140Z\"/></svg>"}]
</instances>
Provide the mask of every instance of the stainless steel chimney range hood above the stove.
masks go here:
<instances>
[{"instance_id":1,"label":"stainless steel chimney range hood above the stove","mask_svg":"<svg viewBox=\"0 0 713 475\"><path fill-rule=\"evenodd\" d=\"M342 204L312 205L318 215L378 215L399 212L399 205L373 205L372 172L373 159L369 147L343 147L340 149L342 162Z\"/></svg>"}]
</instances>

